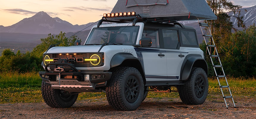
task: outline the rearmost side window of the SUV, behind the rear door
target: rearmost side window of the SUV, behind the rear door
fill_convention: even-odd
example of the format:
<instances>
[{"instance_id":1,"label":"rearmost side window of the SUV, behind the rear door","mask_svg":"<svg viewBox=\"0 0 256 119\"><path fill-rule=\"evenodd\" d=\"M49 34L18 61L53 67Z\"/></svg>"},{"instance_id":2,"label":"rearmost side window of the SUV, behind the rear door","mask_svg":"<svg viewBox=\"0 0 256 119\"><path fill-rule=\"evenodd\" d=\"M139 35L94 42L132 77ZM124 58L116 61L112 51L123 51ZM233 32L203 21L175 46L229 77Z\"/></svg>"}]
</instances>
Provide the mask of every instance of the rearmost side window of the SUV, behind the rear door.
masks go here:
<instances>
[{"instance_id":1,"label":"rearmost side window of the SUV, behind the rear door","mask_svg":"<svg viewBox=\"0 0 256 119\"><path fill-rule=\"evenodd\" d=\"M183 45L198 45L196 40L196 33L194 31L181 31Z\"/></svg>"}]
</instances>

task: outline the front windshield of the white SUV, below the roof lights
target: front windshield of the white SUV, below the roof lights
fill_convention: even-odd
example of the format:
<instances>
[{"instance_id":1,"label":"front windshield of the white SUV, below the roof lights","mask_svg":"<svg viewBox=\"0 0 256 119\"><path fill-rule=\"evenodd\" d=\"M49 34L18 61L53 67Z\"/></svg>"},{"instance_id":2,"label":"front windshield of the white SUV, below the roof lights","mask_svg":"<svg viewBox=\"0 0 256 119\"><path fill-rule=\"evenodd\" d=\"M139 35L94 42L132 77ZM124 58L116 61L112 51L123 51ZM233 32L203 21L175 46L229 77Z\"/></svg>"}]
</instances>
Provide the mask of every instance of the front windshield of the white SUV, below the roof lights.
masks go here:
<instances>
[{"instance_id":1,"label":"front windshield of the white SUV, below the roof lights","mask_svg":"<svg viewBox=\"0 0 256 119\"><path fill-rule=\"evenodd\" d=\"M112 26L93 28L85 44L135 44L139 26Z\"/></svg>"}]
</instances>

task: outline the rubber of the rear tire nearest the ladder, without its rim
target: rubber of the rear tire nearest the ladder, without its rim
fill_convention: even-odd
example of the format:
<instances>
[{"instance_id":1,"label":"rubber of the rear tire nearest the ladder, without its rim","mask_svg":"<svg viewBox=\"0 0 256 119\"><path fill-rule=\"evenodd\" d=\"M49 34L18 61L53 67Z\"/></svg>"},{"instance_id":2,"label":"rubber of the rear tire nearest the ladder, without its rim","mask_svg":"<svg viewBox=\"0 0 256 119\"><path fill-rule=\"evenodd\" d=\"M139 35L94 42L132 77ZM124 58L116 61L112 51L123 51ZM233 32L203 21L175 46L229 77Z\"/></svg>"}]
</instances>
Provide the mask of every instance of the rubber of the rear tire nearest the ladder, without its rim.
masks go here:
<instances>
[{"instance_id":1,"label":"rubber of the rear tire nearest the ladder, without its rim","mask_svg":"<svg viewBox=\"0 0 256 119\"><path fill-rule=\"evenodd\" d=\"M205 92L201 98L198 98L195 94L195 78L201 75L204 79ZM208 94L208 79L205 71L202 68L192 68L188 80L185 85L178 86L179 97L185 104L198 105L203 104Z\"/></svg>"}]
</instances>

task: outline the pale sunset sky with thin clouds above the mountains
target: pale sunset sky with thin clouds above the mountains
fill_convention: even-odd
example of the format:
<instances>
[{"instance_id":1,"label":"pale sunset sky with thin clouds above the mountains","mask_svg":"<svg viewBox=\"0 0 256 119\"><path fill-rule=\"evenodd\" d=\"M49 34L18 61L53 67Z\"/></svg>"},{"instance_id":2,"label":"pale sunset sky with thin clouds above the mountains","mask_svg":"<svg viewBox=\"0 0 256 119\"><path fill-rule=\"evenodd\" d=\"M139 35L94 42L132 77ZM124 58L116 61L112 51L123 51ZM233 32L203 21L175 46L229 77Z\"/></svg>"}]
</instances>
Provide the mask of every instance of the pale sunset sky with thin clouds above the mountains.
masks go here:
<instances>
[{"instance_id":1,"label":"pale sunset sky with thin clouds above the mountains","mask_svg":"<svg viewBox=\"0 0 256 119\"><path fill-rule=\"evenodd\" d=\"M255 0L230 0L243 8L256 5ZM0 0L0 25L11 26L37 12L44 11L75 25L95 22L110 13L117 0Z\"/></svg>"}]
</instances>

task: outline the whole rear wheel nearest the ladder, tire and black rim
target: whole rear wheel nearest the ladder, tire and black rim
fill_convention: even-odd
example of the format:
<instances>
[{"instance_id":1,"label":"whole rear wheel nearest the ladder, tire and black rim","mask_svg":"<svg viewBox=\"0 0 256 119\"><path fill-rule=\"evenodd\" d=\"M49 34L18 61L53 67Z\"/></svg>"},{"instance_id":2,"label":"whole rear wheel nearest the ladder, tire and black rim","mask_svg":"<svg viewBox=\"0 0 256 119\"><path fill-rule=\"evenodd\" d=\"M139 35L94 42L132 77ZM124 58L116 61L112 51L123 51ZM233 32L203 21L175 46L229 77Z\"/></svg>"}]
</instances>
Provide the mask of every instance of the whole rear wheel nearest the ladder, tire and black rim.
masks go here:
<instances>
[{"instance_id":1,"label":"whole rear wheel nearest the ladder, tire and black rim","mask_svg":"<svg viewBox=\"0 0 256 119\"><path fill-rule=\"evenodd\" d=\"M185 85L179 85L179 97L185 104L203 104L208 94L208 79L202 68L193 68Z\"/></svg>"}]
</instances>

